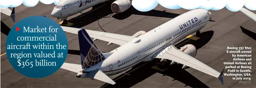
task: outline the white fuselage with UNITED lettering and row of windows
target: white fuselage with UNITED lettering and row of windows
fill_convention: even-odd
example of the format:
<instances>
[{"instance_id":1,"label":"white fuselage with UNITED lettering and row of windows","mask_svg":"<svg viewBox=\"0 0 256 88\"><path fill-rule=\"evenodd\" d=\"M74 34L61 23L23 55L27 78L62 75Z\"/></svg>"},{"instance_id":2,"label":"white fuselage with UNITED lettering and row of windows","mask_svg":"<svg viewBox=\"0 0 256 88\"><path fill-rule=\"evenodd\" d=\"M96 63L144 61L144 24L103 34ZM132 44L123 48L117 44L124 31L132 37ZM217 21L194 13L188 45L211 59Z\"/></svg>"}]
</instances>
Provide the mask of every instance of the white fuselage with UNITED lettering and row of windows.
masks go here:
<instances>
[{"instance_id":1,"label":"white fuselage with UNITED lettering and row of windows","mask_svg":"<svg viewBox=\"0 0 256 88\"><path fill-rule=\"evenodd\" d=\"M150 61L154 54L165 46L172 45L190 34L201 30L209 21L211 13L204 9L191 10L150 30L146 34L134 38L129 43L111 51L112 55L104 61L87 69L81 75L91 70L100 69L106 75L115 75L139 64Z\"/></svg>"}]
</instances>

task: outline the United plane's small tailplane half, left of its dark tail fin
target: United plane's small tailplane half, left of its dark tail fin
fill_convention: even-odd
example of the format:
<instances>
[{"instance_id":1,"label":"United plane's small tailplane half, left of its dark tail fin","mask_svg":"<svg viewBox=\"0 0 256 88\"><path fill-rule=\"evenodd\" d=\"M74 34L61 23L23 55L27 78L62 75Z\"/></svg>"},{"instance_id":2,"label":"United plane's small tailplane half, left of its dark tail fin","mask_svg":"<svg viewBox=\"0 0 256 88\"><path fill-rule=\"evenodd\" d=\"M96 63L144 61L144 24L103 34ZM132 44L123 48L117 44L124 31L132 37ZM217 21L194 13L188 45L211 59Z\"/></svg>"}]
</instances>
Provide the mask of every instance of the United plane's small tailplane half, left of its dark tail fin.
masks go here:
<instances>
[{"instance_id":1,"label":"United plane's small tailplane half, left of its dark tail fin","mask_svg":"<svg viewBox=\"0 0 256 88\"><path fill-rule=\"evenodd\" d=\"M60 68L77 73L77 72L79 72L81 70L81 65L80 64L72 64L72 63L64 62L62 67L60 67Z\"/></svg>"}]
</instances>

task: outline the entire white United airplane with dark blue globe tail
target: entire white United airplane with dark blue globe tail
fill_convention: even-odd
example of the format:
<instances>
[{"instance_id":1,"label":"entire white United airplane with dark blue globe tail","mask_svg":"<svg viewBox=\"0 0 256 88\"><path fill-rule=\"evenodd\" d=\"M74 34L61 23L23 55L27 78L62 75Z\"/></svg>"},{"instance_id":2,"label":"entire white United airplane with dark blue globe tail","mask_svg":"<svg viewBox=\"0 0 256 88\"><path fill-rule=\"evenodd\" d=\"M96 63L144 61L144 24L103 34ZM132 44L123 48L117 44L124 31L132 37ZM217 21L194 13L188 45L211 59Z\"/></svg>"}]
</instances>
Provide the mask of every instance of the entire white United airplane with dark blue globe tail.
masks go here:
<instances>
[{"instance_id":1,"label":"entire white United airplane with dark blue globe tail","mask_svg":"<svg viewBox=\"0 0 256 88\"><path fill-rule=\"evenodd\" d=\"M182 69L189 66L217 77L223 85L223 71L219 73L195 59L194 45L188 44L181 49L173 45L194 32L199 34L210 17L211 13L207 10L191 10L147 33L139 31L133 36L62 26L65 32L78 34L82 70L81 65L71 63L64 63L61 68L77 72L78 78L92 78L114 85L115 82L108 76L124 72L140 62L159 58L161 61L171 60L171 64L183 64ZM120 47L109 53L102 53L90 37L107 41L108 45L115 43Z\"/></svg>"}]
</instances>

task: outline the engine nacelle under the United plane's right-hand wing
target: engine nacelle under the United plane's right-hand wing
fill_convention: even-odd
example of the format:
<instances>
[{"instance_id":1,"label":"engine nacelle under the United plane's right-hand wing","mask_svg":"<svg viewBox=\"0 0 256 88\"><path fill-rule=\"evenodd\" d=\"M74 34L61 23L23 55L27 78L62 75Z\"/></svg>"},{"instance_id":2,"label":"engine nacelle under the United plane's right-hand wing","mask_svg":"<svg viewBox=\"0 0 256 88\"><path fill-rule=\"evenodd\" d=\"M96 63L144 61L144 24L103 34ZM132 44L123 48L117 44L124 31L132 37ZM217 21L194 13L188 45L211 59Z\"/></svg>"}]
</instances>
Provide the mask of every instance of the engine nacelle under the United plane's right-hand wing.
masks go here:
<instances>
[{"instance_id":1,"label":"engine nacelle under the United plane's right-hand wing","mask_svg":"<svg viewBox=\"0 0 256 88\"><path fill-rule=\"evenodd\" d=\"M180 48L180 51L195 57L196 56L196 47L194 45L188 44Z\"/></svg>"}]
</instances>

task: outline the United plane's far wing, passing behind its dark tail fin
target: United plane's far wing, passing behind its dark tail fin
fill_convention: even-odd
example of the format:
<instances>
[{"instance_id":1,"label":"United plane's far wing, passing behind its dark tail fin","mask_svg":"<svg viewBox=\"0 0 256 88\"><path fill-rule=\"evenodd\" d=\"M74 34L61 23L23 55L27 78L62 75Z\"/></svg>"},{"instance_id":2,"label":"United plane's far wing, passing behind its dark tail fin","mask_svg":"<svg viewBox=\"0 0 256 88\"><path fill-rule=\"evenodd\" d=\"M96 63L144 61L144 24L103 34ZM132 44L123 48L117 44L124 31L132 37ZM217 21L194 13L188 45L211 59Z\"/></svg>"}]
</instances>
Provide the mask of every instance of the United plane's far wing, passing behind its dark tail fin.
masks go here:
<instances>
[{"instance_id":1,"label":"United plane's far wing, passing behind its dark tail fin","mask_svg":"<svg viewBox=\"0 0 256 88\"><path fill-rule=\"evenodd\" d=\"M61 27L65 32L70 32L73 34L78 34L78 31L81 30L79 28L73 28L73 27L65 27L65 26L61 26ZM89 34L90 37L94 38L94 40L99 39L99 40L107 41L109 42L109 44L115 43L120 46L130 42L134 38L127 35L99 32L94 30L86 30L86 32Z\"/></svg>"}]
</instances>

